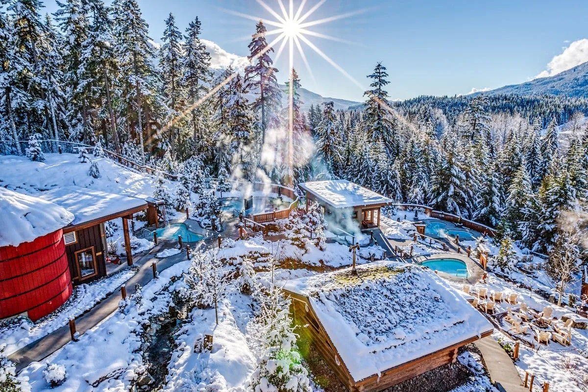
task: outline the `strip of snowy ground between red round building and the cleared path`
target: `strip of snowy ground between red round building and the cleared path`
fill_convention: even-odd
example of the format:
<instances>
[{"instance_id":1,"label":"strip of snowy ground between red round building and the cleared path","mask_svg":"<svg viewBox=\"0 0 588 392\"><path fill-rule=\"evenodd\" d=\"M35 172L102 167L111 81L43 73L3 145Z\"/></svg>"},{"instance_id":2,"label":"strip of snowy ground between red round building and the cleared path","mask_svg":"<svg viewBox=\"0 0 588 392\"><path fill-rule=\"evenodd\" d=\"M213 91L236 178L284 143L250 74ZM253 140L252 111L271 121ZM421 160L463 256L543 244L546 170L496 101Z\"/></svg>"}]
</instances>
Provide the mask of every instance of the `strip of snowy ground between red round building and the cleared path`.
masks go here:
<instances>
[{"instance_id":1,"label":"strip of snowy ground between red round building and the cleared path","mask_svg":"<svg viewBox=\"0 0 588 392\"><path fill-rule=\"evenodd\" d=\"M4 354L14 353L27 344L66 326L70 316L78 317L92 309L96 303L131 279L136 272L136 268L125 268L105 279L76 286L74 293L63 306L36 323L21 318L9 320L4 326L0 326L0 341L6 344Z\"/></svg>"}]
</instances>

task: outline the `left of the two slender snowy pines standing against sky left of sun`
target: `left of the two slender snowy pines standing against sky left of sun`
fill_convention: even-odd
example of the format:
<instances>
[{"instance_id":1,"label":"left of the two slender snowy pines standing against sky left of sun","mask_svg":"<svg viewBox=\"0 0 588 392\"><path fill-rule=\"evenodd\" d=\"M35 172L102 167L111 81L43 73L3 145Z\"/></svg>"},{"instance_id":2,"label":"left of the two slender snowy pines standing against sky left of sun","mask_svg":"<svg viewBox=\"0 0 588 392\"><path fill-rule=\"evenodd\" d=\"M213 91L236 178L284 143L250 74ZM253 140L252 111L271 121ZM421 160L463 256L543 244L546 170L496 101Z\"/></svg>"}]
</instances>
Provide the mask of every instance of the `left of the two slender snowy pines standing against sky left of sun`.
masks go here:
<instances>
[{"instance_id":1,"label":"left of the two slender snowy pines standing against sky left of sun","mask_svg":"<svg viewBox=\"0 0 588 392\"><path fill-rule=\"evenodd\" d=\"M183 142L180 134L182 127L185 126L185 119L177 117L186 106L186 90L185 85L181 82L184 74L183 36L171 13L165 19L165 30L163 30L161 40L159 66L163 79L163 97L169 109L166 119L168 123L171 123L168 129L168 139L171 140L172 148L176 148L179 143Z\"/></svg>"}]
</instances>

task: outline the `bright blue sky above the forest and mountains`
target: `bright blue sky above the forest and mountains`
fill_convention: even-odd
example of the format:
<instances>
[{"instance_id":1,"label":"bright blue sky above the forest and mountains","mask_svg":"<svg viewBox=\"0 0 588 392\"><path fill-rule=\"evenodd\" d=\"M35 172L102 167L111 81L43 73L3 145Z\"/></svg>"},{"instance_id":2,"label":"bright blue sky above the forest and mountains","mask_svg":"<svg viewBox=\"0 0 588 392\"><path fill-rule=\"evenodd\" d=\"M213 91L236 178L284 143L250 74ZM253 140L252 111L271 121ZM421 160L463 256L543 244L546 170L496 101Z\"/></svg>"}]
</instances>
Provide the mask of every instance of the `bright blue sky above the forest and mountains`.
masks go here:
<instances>
[{"instance_id":1,"label":"bright blue sky above the forest and mountains","mask_svg":"<svg viewBox=\"0 0 588 392\"><path fill-rule=\"evenodd\" d=\"M277 0L265 1L279 11ZM295 9L299 2L294 0ZM305 9L316 2L308 0ZM45 4L46 11L55 11L54 2ZM275 19L255 0L139 0L139 6L155 41L161 41L163 20L169 12L176 16L181 31L199 16L202 38L239 56L248 55L249 38L245 37L255 31L255 21L221 8ZM548 69L548 63L570 43L588 38L585 0L327 0L308 21L362 9L365 12L360 15L309 28L353 43L309 39L364 89L368 86L365 76L382 61L390 74L392 99L454 95L472 88L525 82ZM551 73L569 62L588 61L588 41L576 46L552 63ZM363 89L308 46L304 48L315 80L296 56L295 68L303 87L323 96L362 100ZM287 57L284 53L277 64L282 70L280 81L287 77Z\"/></svg>"}]
</instances>

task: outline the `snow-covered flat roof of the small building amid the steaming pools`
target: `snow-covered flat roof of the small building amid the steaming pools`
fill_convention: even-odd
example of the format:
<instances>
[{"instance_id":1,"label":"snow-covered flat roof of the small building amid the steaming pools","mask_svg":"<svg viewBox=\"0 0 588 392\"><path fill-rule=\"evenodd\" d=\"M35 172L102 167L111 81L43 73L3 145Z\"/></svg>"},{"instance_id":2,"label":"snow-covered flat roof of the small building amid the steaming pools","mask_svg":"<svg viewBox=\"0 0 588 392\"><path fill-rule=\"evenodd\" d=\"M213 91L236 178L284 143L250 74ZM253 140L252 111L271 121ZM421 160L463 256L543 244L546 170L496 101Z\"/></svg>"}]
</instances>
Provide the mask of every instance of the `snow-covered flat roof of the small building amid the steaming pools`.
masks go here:
<instances>
[{"instance_id":1,"label":"snow-covered flat roof of the small building amid the steaming pools","mask_svg":"<svg viewBox=\"0 0 588 392\"><path fill-rule=\"evenodd\" d=\"M312 193L320 201L335 208L382 205L394 202L392 199L348 180L303 182L299 186Z\"/></svg>"}]
</instances>

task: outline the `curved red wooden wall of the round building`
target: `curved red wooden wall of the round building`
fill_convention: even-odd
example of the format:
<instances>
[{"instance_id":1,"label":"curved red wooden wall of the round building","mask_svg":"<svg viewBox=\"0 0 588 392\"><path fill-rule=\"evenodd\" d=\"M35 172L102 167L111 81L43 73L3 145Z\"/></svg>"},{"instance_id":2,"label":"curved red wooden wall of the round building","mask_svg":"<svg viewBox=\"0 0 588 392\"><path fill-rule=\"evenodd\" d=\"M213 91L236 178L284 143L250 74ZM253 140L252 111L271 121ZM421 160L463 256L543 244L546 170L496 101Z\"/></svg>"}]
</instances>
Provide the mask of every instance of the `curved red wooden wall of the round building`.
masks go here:
<instances>
[{"instance_id":1,"label":"curved red wooden wall of the round building","mask_svg":"<svg viewBox=\"0 0 588 392\"><path fill-rule=\"evenodd\" d=\"M0 319L28 312L36 321L72 293L62 230L19 246L0 247Z\"/></svg>"}]
</instances>

